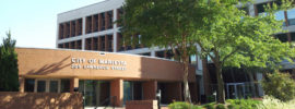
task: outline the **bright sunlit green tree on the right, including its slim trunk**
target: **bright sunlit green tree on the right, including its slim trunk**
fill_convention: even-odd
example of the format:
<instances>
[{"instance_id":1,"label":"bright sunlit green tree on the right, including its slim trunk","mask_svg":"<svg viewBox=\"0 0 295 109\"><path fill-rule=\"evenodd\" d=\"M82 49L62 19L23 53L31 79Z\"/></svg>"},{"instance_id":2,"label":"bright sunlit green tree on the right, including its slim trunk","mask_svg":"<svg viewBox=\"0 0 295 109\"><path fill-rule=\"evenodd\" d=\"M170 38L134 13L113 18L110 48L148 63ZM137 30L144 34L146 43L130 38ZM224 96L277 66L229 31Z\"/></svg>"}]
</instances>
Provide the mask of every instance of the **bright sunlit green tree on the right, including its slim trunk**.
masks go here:
<instances>
[{"instance_id":1,"label":"bright sunlit green tree on the right, including its slim trunk","mask_svg":"<svg viewBox=\"0 0 295 109\"><path fill-rule=\"evenodd\" d=\"M282 1L268 5L264 16L250 16L240 10L238 3L247 4L248 0L200 0L198 7L203 12L203 25L196 29L194 39L216 68L217 101L225 102L222 70L225 66L258 66L278 64L283 59L291 60L294 49L290 44L281 43L273 35L282 31L282 21L276 21L275 10L292 7Z\"/></svg>"}]
</instances>

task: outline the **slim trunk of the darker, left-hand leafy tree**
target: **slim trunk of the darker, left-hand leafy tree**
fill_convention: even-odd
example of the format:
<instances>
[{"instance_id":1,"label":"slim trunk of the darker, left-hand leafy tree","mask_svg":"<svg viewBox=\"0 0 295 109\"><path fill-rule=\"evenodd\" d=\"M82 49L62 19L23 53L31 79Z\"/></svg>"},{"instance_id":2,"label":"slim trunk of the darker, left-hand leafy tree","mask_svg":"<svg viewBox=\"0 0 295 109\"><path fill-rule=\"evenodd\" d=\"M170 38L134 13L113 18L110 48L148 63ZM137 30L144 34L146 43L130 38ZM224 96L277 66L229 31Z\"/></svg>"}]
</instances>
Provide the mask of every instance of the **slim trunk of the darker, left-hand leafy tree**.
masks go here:
<instances>
[{"instance_id":1,"label":"slim trunk of the darker, left-hand leafy tree","mask_svg":"<svg viewBox=\"0 0 295 109\"><path fill-rule=\"evenodd\" d=\"M184 52L184 95L185 95L185 101L191 102L190 99L190 92L189 92L189 85L188 85L188 73L189 73L189 58L186 55L186 51Z\"/></svg>"}]
</instances>

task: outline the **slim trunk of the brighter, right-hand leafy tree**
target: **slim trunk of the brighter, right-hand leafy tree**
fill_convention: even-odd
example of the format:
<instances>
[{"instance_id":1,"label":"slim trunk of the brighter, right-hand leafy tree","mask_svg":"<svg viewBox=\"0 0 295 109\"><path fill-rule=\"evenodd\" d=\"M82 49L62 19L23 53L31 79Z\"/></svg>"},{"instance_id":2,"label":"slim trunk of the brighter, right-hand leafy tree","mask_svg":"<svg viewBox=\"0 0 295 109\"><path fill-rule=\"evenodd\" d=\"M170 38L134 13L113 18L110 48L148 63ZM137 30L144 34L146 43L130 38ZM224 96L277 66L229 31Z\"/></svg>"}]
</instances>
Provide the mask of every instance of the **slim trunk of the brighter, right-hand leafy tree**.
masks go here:
<instances>
[{"instance_id":1,"label":"slim trunk of the brighter, right-hand leafy tree","mask_svg":"<svg viewBox=\"0 0 295 109\"><path fill-rule=\"evenodd\" d=\"M222 77L222 66L216 63L216 78L217 78L217 102L225 104L224 82Z\"/></svg>"}]
</instances>

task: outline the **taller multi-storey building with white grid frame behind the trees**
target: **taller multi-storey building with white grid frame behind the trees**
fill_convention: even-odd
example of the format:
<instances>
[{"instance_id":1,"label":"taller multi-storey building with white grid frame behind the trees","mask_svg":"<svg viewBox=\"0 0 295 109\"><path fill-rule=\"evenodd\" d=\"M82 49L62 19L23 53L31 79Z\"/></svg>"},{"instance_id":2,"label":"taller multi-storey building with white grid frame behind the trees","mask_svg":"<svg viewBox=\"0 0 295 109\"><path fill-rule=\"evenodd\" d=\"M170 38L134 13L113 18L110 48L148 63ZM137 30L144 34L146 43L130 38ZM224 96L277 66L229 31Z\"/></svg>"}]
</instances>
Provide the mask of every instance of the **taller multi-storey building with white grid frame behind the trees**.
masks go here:
<instances>
[{"instance_id":1,"label":"taller multi-storey building with white grid frame behind the trees","mask_svg":"<svg viewBox=\"0 0 295 109\"><path fill-rule=\"evenodd\" d=\"M122 13L121 7L125 0L105 0L68 12L58 14L57 20L57 48L78 49L92 51L108 51L119 53L133 53L174 60L173 52L163 48L146 48L140 41L135 46L123 44L119 32L120 25L114 23ZM263 5L270 0L255 0L253 3L243 8L247 14L257 16L266 12ZM295 9L276 12L276 20L283 20L283 28L287 33L278 33L275 38L281 41L293 43L295 40ZM140 35L132 36L140 38ZM198 48L198 47L197 47ZM199 95L212 95L216 92L214 65L210 59L201 59L198 56L190 57L190 63L194 66L196 82L199 86ZM294 65L283 61L283 71L294 72ZM294 73L295 74L295 73ZM259 85L261 73L248 74L240 69L225 70L225 87L227 98L238 96L262 96ZM199 96L199 99L205 97Z\"/></svg>"}]
</instances>

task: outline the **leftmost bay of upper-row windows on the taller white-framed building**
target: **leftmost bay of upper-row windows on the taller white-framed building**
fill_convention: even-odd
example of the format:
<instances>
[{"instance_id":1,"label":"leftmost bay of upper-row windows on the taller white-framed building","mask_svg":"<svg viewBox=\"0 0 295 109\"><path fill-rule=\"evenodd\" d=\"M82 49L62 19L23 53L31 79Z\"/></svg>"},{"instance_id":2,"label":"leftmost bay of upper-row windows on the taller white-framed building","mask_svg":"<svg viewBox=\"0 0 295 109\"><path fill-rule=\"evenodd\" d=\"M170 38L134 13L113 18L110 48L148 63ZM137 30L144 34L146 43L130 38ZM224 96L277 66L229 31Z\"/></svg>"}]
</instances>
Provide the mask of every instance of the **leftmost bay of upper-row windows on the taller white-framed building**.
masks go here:
<instances>
[{"instance_id":1,"label":"leftmost bay of upper-row windows on the taller white-framed building","mask_svg":"<svg viewBox=\"0 0 295 109\"><path fill-rule=\"evenodd\" d=\"M82 35L82 19L59 24L59 39Z\"/></svg>"}]
</instances>

